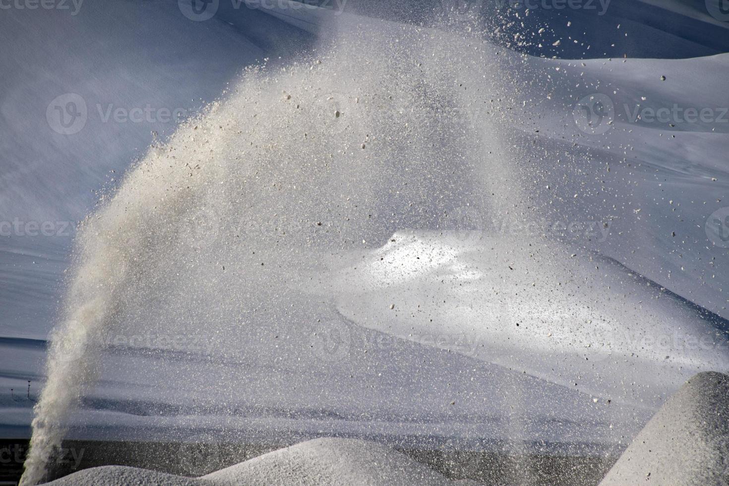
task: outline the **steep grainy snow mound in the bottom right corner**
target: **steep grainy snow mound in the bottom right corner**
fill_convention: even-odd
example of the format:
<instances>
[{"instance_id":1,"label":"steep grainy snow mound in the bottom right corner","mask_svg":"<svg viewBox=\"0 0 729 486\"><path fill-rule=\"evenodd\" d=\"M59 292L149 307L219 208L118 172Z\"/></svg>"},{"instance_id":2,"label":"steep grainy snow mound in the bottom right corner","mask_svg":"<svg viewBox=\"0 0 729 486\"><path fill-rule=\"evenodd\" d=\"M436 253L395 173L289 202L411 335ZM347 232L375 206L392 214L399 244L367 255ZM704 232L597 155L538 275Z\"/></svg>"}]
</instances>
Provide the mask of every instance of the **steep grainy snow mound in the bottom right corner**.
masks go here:
<instances>
[{"instance_id":1,"label":"steep grainy snow mound in the bottom right corner","mask_svg":"<svg viewBox=\"0 0 729 486\"><path fill-rule=\"evenodd\" d=\"M617 460L601 486L725 485L729 375L703 372L669 399Z\"/></svg>"}]
</instances>

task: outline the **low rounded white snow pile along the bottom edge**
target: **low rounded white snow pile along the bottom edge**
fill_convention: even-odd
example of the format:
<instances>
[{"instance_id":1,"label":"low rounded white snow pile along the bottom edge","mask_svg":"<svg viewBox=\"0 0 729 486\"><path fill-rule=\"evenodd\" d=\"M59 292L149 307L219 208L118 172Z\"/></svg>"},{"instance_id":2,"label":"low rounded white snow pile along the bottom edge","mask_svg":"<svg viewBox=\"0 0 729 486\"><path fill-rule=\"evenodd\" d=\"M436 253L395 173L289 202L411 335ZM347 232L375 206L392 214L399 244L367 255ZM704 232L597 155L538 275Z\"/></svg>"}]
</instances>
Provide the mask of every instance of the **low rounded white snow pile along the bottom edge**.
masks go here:
<instances>
[{"instance_id":1,"label":"low rounded white snow pile along the bottom edge","mask_svg":"<svg viewBox=\"0 0 729 486\"><path fill-rule=\"evenodd\" d=\"M124 466L85 469L48 483L93 485L469 485L451 481L416 460L375 442L313 439L269 452L200 478Z\"/></svg>"}]
</instances>

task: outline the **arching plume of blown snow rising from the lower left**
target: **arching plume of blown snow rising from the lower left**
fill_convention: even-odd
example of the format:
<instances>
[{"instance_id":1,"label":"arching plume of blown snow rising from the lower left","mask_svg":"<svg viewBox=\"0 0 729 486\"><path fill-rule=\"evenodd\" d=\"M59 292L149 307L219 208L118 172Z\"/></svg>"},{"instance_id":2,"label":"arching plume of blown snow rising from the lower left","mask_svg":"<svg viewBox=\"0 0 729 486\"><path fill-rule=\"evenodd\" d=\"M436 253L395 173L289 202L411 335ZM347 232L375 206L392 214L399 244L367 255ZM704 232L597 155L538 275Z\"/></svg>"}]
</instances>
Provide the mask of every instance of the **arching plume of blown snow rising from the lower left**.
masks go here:
<instances>
[{"instance_id":1,"label":"arching plume of blown snow rising from the lower left","mask_svg":"<svg viewBox=\"0 0 729 486\"><path fill-rule=\"evenodd\" d=\"M472 229L518 197L496 128L504 56L378 25L346 26L346 40L289 66L247 68L87 218L21 484L44 479L110 334L167 326L224 346L246 332L230 315L263 294L286 320L286 275L317 263L314 251Z\"/></svg>"}]
</instances>

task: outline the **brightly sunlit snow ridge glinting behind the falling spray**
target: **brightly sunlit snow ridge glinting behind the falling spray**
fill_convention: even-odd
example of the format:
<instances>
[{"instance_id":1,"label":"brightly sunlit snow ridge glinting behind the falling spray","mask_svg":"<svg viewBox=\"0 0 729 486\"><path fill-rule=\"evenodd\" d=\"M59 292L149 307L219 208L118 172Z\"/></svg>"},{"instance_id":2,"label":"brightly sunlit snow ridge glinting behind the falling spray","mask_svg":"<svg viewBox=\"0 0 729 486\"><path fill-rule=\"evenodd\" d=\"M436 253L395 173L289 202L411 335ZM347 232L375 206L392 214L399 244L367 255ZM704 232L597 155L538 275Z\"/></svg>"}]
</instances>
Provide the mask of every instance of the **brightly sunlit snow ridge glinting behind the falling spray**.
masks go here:
<instances>
[{"instance_id":1,"label":"brightly sunlit snow ridge glinting behind the falling spray","mask_svg":"<svg viewBox=\"0 0 729 486\"><path fill-rule=\"evenodd\" d=\"M520 243L397 233L322 291L362 326L636 406L729 367L728 321L604 257Z\"/></svg>"}]
</instances>

